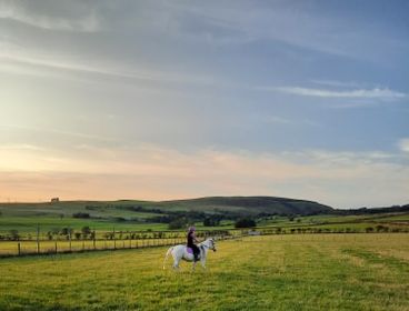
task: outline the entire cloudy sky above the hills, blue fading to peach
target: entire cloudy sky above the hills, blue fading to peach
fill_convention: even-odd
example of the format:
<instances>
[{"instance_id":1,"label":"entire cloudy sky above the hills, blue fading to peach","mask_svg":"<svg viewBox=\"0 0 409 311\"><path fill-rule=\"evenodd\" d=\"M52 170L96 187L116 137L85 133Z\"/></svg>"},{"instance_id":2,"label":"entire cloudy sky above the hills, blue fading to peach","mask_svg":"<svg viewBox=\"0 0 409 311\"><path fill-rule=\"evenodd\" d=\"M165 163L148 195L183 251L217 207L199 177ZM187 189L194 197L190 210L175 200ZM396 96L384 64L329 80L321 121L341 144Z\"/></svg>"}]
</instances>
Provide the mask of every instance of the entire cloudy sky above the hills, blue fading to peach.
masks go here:
<instances>
[{"instance_id":1,"label":"entire cloudy sky above the hills, blue fading to peach","mask_svg":"<svg viewBox=\"0 0 409 311\"><path fill-rule=\"evenodd\" d=\"M408 1L0 0L0 201L409 203Z\"/></svg>"}]
</instances>

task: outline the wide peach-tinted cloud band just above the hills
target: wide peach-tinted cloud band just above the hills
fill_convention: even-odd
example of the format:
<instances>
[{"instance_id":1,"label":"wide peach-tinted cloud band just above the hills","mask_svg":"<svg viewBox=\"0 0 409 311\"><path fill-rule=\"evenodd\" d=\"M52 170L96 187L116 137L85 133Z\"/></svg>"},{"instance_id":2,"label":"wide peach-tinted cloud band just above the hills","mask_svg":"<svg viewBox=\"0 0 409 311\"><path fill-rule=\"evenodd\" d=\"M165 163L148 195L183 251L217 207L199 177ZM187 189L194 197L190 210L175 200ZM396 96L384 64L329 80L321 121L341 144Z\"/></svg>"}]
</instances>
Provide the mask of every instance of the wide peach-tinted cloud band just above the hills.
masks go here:
<instances>
[{"instance_id":1,"label":"wide peach-tinted cloud band just above the hills","mask_svg":"<svg viewBox=\"0 0 409 311\"><path fill-rule=\"evenodd\" d=\"M0 187L11 198L176 199L281 195L335 207L407 203L409 169L382 152L256 153L152 144L68 152L36 146L0 149ZM51 189L52 188L52 189ZM33 191L33 189L36 191ZM4 195L4 194L3 194Z\"/></svg>"}]
</instances>

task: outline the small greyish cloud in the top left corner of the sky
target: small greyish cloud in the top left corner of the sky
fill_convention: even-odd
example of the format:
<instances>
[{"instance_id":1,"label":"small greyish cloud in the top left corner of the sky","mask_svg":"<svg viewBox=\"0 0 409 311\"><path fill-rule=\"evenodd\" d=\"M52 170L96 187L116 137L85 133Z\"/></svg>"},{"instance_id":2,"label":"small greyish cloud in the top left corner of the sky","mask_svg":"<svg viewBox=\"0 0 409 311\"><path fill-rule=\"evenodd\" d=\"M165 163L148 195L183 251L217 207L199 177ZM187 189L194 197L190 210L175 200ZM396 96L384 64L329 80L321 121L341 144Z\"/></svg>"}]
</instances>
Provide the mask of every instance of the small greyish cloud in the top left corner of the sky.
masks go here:
<instances>
[{"instance_id":1,"label":"small greyish cloud in the top left corner of the sky","mask_svg":"<svg viewBox=\"0 0 409 311\"><path fill-rule=\"evenodd\" d=\"M17 1L0 3L0 19L13 20L47 30L76 32L96 32L100 30L100 23L94 12L72 18L47 16L28 11L27 8L21 6L21 2Z\"/></svg>"}]
</instances>

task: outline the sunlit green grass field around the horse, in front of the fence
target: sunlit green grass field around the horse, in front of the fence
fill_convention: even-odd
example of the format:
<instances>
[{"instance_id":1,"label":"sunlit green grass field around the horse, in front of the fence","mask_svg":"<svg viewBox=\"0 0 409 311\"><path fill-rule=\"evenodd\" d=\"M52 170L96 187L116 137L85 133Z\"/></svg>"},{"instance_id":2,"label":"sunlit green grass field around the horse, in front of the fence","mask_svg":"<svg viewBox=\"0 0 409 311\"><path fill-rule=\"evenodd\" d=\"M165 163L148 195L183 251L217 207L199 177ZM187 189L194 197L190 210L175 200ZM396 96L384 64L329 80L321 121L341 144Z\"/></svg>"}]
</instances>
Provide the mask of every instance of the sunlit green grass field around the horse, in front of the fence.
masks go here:
<instances>
[{"instance_id":1,"label":"sunlit green grass field around the horse, in front of the fence","mask_svg":"<svg viewBox=\"0 0 409 311\"><path fill-rule=\"evenodd\" d=\"M0 260L0 310L408 310L409 235L220 241L208 271L166 248ZM170 267L170 262L168 262Z\"/></svg>"}]
</instances>

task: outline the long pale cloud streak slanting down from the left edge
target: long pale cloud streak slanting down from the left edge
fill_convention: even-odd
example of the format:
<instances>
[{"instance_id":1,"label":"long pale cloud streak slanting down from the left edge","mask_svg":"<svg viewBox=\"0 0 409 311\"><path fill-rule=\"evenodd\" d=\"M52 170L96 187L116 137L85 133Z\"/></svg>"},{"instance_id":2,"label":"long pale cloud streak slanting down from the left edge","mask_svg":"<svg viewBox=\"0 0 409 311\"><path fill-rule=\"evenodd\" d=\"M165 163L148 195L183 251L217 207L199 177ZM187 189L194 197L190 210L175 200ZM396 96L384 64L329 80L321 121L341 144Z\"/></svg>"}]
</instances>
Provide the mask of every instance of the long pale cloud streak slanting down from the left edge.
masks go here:
<instances>
[{"instance_id":1,"label":"long pale cloud streak slanting down from the left edge","mask_svg":"<svg viewBox=\"0 0 409 311\"><path fill-rule=\"evenodd\" d=\"M83 73L91 77L112 77L120 79L141 80L144 82L162 82L171 84L194 84L203 87L238 87L233 82L221 80L206 74L191 74L188 72L160 70L146 64L127 67L117 60L89 60L64 56L64 53L48 53L36 50L27 50L23 47L0 40L0 71L28 74L28 76L53 76L67 78L56 73ZM38 70L42 68L42 70ZM46 71L49 70L50 72ZM82 80L78 74L71 74L74 79ZM96 79L93 79L96 80Z\"/></svg>"}]
</instances>

